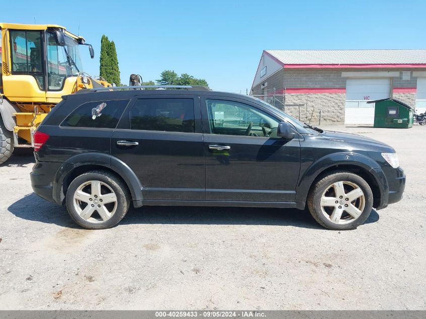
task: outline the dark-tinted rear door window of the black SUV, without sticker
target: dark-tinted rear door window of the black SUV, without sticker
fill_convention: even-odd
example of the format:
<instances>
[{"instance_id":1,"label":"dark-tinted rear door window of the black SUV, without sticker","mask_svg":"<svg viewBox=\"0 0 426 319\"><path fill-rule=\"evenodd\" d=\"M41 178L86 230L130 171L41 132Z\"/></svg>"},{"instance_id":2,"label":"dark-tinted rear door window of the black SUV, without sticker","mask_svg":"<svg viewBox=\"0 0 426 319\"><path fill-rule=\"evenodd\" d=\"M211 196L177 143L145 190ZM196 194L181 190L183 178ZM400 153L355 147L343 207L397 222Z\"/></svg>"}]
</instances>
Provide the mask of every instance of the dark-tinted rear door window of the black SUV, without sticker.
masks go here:
<instances>
[{"instance_id":1,"label":"dark-tinted rear door window of the black SUV, without sticker","mask_svg":"<svg viewBox=\"0 0 426 319\"><path fill-rule=\"evenodd\" d=\"M139 99L130 112L130 128L194 133L194 100Z\"/></svg>"}]
</instances>

